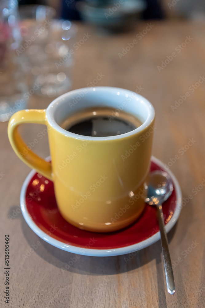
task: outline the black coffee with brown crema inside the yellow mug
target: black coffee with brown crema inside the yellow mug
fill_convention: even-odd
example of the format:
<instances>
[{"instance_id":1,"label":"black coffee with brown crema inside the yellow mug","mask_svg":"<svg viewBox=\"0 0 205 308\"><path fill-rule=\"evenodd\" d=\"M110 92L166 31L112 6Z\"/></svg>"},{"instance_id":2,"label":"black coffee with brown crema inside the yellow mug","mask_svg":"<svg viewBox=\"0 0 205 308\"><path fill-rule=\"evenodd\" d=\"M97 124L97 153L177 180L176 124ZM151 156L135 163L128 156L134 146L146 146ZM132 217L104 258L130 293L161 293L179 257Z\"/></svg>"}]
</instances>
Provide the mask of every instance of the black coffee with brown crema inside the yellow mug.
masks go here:
<instances>
[{"instance_id":1,"label":"black coffee with brown crema inside the yellow mug","mask_svg":"<svg viewBox=\"0 0 205 308\"><path fill-rule=\"evenodd\" d=\"M134 115L110 107L87 108L69 116L61 123L61 127L69 132L90 137L121 135L140 125L142 122Z\"/></svg>"}]
</instances>

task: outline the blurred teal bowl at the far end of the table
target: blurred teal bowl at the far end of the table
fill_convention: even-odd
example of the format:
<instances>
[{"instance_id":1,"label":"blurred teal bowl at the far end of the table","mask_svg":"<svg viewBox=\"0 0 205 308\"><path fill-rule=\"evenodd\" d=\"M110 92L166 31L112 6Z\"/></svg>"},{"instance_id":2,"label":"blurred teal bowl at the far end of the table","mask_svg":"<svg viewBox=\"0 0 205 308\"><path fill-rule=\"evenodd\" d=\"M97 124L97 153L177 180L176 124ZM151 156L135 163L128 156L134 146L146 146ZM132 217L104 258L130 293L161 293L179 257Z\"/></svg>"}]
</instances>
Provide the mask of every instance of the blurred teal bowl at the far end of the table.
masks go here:
<instances>
[{"instance_id":1,"label":"blurred teal bowl at the far end of the table","mask_svg":"<svg viewBox=\"0 0 205 308\"><path fill-rule=\"evenodd\" d=\"M77 9L81 18L93 26L110 31L119 32L129 30L147 4L144 0L86 0L77 2Z\"/></svg>"}]
</instances>

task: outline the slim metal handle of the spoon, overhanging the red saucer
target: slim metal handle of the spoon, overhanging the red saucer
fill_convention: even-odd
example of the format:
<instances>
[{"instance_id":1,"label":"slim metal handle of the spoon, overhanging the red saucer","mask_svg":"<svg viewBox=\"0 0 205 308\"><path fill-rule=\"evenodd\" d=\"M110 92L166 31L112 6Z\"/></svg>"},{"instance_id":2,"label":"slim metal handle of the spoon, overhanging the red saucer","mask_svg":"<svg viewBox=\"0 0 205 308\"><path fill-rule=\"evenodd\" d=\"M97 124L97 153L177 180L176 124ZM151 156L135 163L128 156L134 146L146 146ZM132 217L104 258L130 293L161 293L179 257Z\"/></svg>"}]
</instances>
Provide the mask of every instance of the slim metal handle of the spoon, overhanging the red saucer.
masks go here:
<instances>
[{"instance_id":1,"label":"slim metal handle of the spoon, overhanging the red saucer","mask_svg":"<svg viewBox=\"0 0 205 308\"><path fill-rule=\"evenodd\" d=\"M168 246L168 239L167 233L164 227L164 215L162 211L162 205L157 205L157 216L160 226L160 234L161 234L161 245L162 245L162 254L163 254L163 261L164 261L164 270L165 270L165 277L167 282L167 290L169 294L175 293L175 282L174 282L174 274L171 265L171 258L169 253L169 246Z\"/></svg>"}]
</instances>

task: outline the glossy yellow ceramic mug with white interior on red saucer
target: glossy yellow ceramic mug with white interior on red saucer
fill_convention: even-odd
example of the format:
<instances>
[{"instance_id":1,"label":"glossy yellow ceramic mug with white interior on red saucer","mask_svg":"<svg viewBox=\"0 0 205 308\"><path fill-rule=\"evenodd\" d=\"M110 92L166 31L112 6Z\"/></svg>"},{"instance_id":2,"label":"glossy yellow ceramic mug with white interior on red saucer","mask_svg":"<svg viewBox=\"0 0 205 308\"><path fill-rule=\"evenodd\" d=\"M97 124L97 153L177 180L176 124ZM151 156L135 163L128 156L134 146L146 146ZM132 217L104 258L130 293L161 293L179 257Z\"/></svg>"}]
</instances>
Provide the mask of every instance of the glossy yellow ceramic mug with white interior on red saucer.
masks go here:
<instances>
[{"instance_id":1,"label":"glossy yellow ceramic mug with white interior on red saucer","mask_svg":"<svg viewBox=\"0 0 205 308\"><path fill-rule=\"evenodd\" d=\"M89 107L112 107L136 116L142 125L131 132L87 137L61 128L73 113ZM55 99L46 110L16 112L8 125L10 143L18 157L54 183L61 215L72 225L94 232L124 228L142 213L150 168L155 111L139 94L114 88L82 88ZM18 126L47 125L51 162L26 144Z\"/></svg>"}]
</instances>

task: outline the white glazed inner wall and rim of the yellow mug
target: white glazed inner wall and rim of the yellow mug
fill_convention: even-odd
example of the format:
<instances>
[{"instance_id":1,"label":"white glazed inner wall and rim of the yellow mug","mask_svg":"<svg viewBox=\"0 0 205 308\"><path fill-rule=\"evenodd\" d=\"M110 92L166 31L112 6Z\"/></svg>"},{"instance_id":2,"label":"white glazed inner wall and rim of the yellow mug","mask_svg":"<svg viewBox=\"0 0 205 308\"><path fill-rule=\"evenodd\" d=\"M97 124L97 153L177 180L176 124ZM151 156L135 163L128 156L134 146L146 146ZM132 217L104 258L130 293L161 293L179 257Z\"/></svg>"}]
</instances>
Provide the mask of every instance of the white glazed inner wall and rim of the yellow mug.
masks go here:
<instances>
[{"instance_id":1,"label":"white glazed inner wall and rim of the yellow mug","mask_svg":"<svg viewBox=\"0 0 205 308\"><path fill-rule=\"evenodd\" d=\"M132 135L133 133L139 132L146 128L155 116L152 104L135 92L113 87L92 87L73 90L55 99L47 108L47 120L57 130L73 136L76 134L67 132L61 128L61 123L73 113L94 106L112 107L115 112L125 111L136 116L142 122L140 127L131 132L106 137L106 139L116 139L123 135L125 137L125 135ZM83 137L86 139L86 136ZM89 138L102 139L104 137Z\"/></svg>"}]
</instances>

